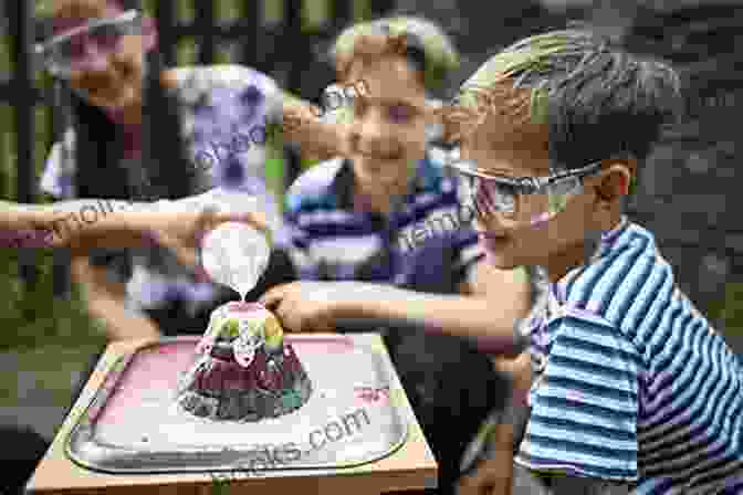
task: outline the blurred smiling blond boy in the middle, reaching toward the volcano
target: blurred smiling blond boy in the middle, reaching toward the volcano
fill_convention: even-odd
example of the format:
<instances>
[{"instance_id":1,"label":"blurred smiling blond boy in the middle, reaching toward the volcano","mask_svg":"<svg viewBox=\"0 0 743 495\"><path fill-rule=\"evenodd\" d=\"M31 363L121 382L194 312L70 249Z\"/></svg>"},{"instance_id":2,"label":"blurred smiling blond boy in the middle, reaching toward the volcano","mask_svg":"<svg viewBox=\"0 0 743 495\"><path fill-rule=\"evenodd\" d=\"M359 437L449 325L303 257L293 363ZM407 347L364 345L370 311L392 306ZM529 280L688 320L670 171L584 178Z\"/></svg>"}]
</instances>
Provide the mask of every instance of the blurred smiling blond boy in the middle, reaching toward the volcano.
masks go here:
<instances>
[{"instance_id":1,"label":"blurred smiling blond boy in the middle, reaching toward the volcano","mask_svg":"<svg viewBox=\"0 0 743 495\"><path fill-rule=\"evenodd\" d=\"M336 116L345 131L347 159L316 165L287 193L289 251L301 278L372 283L367 288L402 294L396 307L406 315L412 299L430 301L422 293L472 295L441 298L467 299L458 310L475 313L488 325L491 312L499 312L511 330L526 310L529 286L511 272L485 266L470 227L472 214L458 208L457 179L443 166L443 151L428 145L427 130L436 119L427 103L457 62L450 41L422 19L381 19L344 31L333 55L338 84L358 94L352 108L335 109L342 114ZM346 282L337 283L345 287ZM390 285L407 291L395 292ZM310 288L295 307L299 312L312 307L315 287L320 294L334 284L291 287ZM378 301L387 301L386 295ZM284 309L290 306L286 298L276 314L297 330L301 314ZM456 312L448 308L444 303L439 314L457 323ZM349 315L356 316L365 315ZM472 331L460 329L460 336ZM474 433L472 423L493 406L486 398L496 396L492 392L500 382L493 383L488 358L460 338L389 331L386 341L440 462L441 483L451 485L462 447ZM463 375L481 379L462 380Z\"/></svg>"}]
</instances>

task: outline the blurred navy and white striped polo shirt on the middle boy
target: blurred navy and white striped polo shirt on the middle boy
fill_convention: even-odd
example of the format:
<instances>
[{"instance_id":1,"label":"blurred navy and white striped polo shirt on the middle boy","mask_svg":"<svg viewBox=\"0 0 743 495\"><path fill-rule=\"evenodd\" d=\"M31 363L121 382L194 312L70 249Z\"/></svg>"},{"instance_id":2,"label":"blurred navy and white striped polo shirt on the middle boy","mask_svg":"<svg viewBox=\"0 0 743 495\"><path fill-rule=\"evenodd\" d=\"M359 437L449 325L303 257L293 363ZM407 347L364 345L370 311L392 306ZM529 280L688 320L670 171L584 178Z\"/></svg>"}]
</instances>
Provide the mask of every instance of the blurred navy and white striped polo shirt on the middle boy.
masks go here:
<instances>
[{"instance_id":1,"label":"blurred navy and white striped polo shirt on the middle boy","mask_svg":"<svg viewBox=\"0 0 743 495\"><path fill-rule=\"evenodd\" d=\"M443 151L429 149L410 192L387 218L355 206L349 160L325 161L302 175L286 194L284 217L300 277L405 285L420 266L414 260L421 247L436 244L453 250L451 270L463 281L483 254L444 159Z\"/></svg>"}]
</instances>

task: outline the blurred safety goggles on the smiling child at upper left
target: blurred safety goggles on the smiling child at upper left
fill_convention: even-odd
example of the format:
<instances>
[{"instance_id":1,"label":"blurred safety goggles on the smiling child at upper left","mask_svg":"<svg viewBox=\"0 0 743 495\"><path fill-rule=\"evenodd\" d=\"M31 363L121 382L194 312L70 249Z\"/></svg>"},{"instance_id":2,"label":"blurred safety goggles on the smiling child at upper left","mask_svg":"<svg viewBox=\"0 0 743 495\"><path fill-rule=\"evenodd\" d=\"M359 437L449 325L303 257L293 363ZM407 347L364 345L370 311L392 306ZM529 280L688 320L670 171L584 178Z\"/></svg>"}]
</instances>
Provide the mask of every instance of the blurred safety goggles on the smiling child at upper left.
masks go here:
<instances>
[{"instance_id":1,"label":"blurred safety goggles on the smiling child at upper left","mask_svg":"<svg viewBox=\"0 0 743 495\"><path fill-rule=\"evenodd\" d=\"M51 74L66 77L74 71L107 63L108 55L119 48L122 39L139 33L140 29L139 12L128 10L115 18L94 20L38 43L34 51Z\"/></svg>"}]
</instances>

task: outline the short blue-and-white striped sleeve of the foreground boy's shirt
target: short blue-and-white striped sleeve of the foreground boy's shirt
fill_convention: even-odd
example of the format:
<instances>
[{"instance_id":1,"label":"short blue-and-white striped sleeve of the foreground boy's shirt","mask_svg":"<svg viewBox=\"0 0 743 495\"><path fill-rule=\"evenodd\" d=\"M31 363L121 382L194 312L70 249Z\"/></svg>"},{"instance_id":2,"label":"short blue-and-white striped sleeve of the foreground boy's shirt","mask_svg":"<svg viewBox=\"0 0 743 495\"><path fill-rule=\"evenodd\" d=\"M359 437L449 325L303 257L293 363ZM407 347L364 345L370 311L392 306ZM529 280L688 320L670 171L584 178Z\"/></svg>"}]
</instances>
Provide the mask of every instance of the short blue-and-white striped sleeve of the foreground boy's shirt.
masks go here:
<instances>
[{"instance_id":1,"label":"short blue-and-white striped sleeve of the foreground boy's shirt","mask_svg":"<svg viewBox=\"0 0 743 495\"><path fill-rule=\"evenodd\" d=\"M640 360L635 346L606 320L589 316L552 320L551 334L516 462L537 473L636 481Z\"/></svg>"}]
</instances>

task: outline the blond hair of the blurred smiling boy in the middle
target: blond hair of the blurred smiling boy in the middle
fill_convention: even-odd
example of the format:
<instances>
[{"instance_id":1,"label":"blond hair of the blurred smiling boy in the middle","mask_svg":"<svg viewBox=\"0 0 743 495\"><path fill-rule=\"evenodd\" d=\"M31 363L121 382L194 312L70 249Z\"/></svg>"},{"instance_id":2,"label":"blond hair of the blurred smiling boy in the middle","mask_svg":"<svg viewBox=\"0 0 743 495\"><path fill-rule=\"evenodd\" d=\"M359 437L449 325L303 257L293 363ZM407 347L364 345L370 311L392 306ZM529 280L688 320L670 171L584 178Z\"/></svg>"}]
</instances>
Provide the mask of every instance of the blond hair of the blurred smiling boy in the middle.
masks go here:
<instances>
[{"instance_id":1,"label":"blond hair of the blurred smiling boy in the middle","mask_svg":"<svg viewBox=\"0 0 743 495\"><path fill-rule=\"evenodd\" d=\"M451 39L436 23L415 17L391 17L346 28L335 40L331 57L341 80L362 56L398 54L421 74L427 91L444 86L459 66L459 53Z\"/></svg>"}]
</instances>

